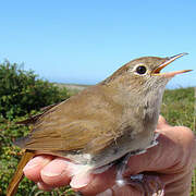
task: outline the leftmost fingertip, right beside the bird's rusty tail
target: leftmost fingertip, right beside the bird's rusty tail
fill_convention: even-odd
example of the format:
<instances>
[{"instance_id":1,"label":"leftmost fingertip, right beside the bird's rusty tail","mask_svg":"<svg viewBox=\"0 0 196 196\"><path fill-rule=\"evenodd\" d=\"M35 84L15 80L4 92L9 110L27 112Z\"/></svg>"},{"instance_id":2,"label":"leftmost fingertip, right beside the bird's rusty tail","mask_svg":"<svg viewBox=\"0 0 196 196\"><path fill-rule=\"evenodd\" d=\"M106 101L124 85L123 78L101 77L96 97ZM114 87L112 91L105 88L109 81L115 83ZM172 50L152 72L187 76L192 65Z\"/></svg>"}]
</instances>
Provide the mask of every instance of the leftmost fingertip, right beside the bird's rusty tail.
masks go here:
<instances>
[{"instance_id":1,"label":"leftmost fingertip, right beside the bird's rusty tail","mask_svg":"<svg viewBox=\"0 0 196 196\"><path fill-rule=\"evenodd\" d=\"M41 181L40 171L52 159L53 157L48 155L37 156L33 158L23 169L25 176L34 182Z\"/></svg>"}]
</instances>

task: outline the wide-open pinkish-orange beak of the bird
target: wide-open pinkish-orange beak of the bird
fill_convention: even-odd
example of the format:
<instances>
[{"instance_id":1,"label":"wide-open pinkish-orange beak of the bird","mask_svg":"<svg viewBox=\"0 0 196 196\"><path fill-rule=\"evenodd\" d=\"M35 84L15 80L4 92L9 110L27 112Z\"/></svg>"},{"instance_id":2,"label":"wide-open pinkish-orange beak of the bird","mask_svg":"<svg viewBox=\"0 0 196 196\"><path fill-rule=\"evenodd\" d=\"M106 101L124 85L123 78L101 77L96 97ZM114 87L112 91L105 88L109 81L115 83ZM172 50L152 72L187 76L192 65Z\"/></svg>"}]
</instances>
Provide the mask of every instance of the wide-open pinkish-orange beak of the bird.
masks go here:
<instances>
[{"instance_id":1,"label":"wide-open pinkish-orange beak of the bird","mask_svg":"<svg viewBox=\"0 0 196 196\"><path fill-rule=\"evenodd\" d=\"M181 70L181 71L175 71L175 72L169 72L169 73L160 73L160 71L166 68L168 64L170 64L171 62L173 62L174 60L185 56L187 53L180 53L180 54L176 54L176 56L173 56L171 58L167 58L168 60L166 62L163 62L162 64L160 64L158 68L156 68L151 75L157 75L157 76L164 76L164 77L173 77L174 75L176 74L181 74L181 73L186 73L186 72L191 72L192 70Z\"/></svg>"}]
</instances>

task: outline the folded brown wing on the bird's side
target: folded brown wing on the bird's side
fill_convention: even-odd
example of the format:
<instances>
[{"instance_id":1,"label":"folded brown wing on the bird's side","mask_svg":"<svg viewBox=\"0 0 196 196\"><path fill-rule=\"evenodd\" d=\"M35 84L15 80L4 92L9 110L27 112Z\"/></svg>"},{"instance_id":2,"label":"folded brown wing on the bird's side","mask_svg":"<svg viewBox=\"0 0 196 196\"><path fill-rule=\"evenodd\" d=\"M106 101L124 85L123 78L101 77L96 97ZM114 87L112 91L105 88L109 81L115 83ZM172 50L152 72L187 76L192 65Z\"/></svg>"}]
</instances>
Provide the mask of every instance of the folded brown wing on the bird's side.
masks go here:
<instances>
[{"instance_id":1,"label":"folded brown wing on the bird's side","mask_svg":"<svg viewBox=\"0 0 196 196\"><path fill-rule=\"evenodd\" d=\"M17 142L19 146L44 151L103 149L115 138L122 115L122 107L106 90L91 87L51 108L35 123L33 132Z\"/></svg>"}]
</instances>

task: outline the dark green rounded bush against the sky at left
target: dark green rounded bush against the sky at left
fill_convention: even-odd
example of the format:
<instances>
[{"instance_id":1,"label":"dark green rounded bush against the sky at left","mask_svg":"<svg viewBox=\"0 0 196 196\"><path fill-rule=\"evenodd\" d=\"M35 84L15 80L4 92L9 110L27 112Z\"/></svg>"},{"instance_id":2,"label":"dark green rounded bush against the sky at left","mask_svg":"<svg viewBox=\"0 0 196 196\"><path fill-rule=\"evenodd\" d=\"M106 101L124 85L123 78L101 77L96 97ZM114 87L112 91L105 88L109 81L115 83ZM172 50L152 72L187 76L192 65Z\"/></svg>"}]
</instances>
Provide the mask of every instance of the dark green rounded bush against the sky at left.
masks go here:
<instances>
[{"instance_id":1,"label":"dark green rounded bush against the sky at left","mask_svg":"<svg viewBox=\"0 0 196 196\"><path fill-rule=\"evenodd\" d=\"M24 71L22 65L9 61L0 64L0 114L3 118L22 117L68 97L65 88L53 86L33 71Z\"/></svg>"}]
</instances>

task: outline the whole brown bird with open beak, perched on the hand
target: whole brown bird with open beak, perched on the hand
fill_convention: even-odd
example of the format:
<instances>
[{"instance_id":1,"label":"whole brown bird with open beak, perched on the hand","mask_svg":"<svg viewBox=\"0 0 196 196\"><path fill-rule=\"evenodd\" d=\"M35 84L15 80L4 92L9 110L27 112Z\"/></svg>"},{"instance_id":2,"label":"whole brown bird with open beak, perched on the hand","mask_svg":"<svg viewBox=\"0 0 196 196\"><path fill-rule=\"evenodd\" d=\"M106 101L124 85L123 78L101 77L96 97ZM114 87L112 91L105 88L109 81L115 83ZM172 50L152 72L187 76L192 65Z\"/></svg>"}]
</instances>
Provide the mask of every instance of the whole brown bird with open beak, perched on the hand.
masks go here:
<instances>
[{"instance_id":1,"label":"whole brown bird with open beak, perched on the hand","mask_svg":"<svg viewBox=\"0 0 196 196\"><path fill-rule=\"evenodd\" d=\"M185 54L134 59L102 82L20 122L33 128L14 143L24 155L7 196L16 193L25 164L42 154L84 166L83 172L118 162L117 182L121 184L128 157L157 144L155 130L166 85L191 70L160 71Z\"/></svg>"}]
</instances>

